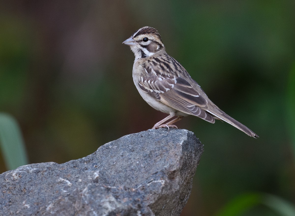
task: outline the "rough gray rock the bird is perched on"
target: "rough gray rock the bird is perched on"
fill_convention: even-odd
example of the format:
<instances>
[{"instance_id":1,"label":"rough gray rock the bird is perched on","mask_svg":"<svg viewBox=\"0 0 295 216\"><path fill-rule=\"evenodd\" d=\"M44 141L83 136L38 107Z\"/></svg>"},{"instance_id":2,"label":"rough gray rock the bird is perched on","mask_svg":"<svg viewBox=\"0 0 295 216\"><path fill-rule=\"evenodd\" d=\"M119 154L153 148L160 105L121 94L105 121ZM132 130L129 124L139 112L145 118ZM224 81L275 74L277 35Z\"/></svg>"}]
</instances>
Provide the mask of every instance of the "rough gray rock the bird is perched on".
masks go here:
<instances>
[{"instance_id":1,"label":"rough gray rock the bird is perched on","mask_svg":"<svg viewBox=\"0 0 295 216\"><path fill-rule=\"evenodd\" d=\"M180 215L202 152L194 133L161 128L21 166L0 175L0 215Z\"/></svg>"}]
</instances>

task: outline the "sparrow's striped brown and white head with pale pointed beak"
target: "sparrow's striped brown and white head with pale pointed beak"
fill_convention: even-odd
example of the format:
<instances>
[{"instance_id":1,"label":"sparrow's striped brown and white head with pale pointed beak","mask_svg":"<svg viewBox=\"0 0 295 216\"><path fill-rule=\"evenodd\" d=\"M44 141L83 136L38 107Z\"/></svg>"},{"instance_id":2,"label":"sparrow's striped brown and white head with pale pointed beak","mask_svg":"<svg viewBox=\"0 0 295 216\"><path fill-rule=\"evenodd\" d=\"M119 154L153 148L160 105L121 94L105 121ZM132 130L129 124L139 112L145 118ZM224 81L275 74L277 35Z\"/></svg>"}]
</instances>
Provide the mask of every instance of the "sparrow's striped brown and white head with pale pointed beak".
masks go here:
<instances>
[{"instance_id":1,"label":"sparrow's striped brown and white head with pale pointed beak","mask_svg":"<svg viewBox=\"0 0 295 216\"><path fill-rule=\"evenodd\" d=\"M148 26L138 29L123 44L130 46L136 59L150 57L165 50L158 30Z\"/></svg>"}]
</instances>

